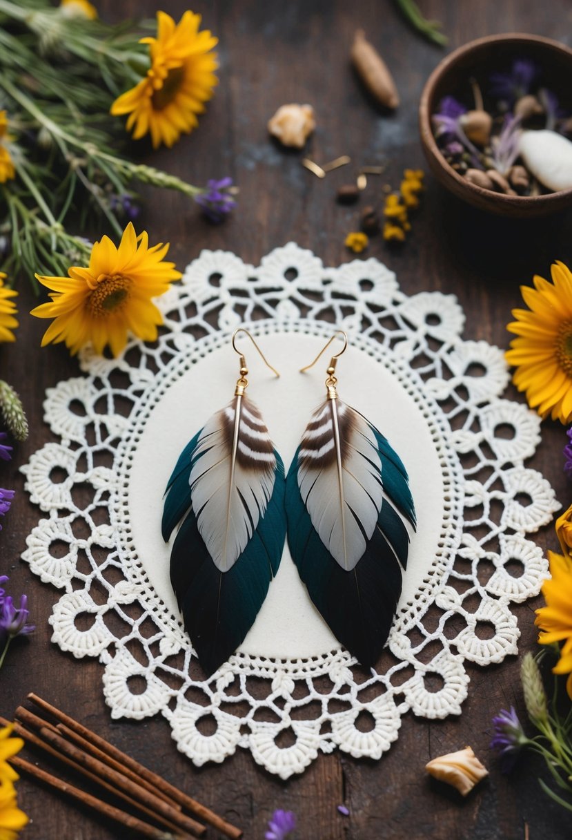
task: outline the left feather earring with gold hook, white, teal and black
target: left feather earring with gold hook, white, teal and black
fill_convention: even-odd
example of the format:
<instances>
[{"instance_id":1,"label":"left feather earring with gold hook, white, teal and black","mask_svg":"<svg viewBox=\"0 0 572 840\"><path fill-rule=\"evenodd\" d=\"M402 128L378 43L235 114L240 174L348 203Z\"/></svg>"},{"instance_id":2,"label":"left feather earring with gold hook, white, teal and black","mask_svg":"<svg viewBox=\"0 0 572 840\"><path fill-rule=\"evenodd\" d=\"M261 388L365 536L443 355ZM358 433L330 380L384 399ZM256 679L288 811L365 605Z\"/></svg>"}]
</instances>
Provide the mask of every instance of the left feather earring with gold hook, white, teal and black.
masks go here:
<instances>
[{"instance_id":1,"label":"left feather earring with gold hook, white, teal and black","mask_svg":"<svg viewBox=\"0 0 572 840\"><path fill-rule=\"evenodd\" d=\"M278 571L286 538L285 478L262 415L245 394L241 357L235 395L185 447L169 479L162 531L178 522L170 576L185 629L209 675L234 653L252 627Z\"/></svg>"}]
</instances>

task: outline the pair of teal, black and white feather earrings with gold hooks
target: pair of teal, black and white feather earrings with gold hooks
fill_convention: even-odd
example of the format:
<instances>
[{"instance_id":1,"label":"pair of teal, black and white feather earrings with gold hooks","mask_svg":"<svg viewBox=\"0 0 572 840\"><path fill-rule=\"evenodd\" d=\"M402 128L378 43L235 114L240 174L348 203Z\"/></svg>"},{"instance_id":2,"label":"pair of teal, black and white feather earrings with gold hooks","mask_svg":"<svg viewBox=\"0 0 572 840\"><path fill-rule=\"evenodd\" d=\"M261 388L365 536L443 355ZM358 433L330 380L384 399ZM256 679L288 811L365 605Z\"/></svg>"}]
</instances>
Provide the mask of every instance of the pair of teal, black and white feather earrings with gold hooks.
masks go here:
<instances>
[{"instance_id":1,"label":"pair of teal, black and white feather earrings with gold hooks","mask_svg":"<svg viewBox=\"0 0 572 840\"><path fill-rule=\"evenodd\" d=\"M200 664L209 675L242 643L278 572L283 545L335 637L372 666L387 640L415 528L403 463L386 438L336 391L310 418L288 475L261 413L246 396L241 357L231 403L190 440L169 479L162 530L174 539L171 583Z\"/></svg>"}]
</instances>

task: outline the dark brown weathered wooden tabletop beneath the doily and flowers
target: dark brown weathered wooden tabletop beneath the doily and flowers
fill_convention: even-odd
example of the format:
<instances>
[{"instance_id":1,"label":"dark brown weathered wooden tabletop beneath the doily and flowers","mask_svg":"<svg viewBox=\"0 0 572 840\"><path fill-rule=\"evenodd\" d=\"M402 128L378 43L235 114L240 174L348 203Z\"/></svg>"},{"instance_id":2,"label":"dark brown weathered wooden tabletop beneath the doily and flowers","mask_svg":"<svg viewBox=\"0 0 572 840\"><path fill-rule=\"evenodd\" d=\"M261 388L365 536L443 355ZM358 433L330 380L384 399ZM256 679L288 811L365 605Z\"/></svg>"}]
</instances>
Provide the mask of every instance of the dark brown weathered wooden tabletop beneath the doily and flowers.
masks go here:
<instances>
[{"instance_id":1,"label":"dark brown weathered wooden tabletop beneath the doily and flowers","mask_svg":"<svg viewBox=\"0 0 572 840\"><path fill-rule=\"evenodd\" d=\"M112 3L100 0L101 17L127 13L152 16L164 8L174 18L183 3L160 5L153 0ZM520 31L571 42L572 4L569 0L421 0L429 17L439 18L450 36L450 49L485 34ZM335 188L347 179L341 170L319 181L304 171L300 155L278 149L266 131L268 118L284 102L311 102L318 129L308 152L318 160L349 154L362 164L387 156L387 181L398 184L404 167L424 166L417 128L417 106L424 81L445 52L408 29L389 0L197 0L205 27L220 38L220 79L216 97L195 134L173 150L144 159L195 183L209 177L232 176L241 194L236 213L224 224L206 223L183 197L146 192L138 227L154 241L169 240L179 266L200 249L229 249L257 264L269 249L294 240L312 249L325 265L352 259L344 247L348 230L356 227L358 210L334 201ZM393 69L402 104L394 116L372 108L348 65L354 29L363 27ZM569 80L568 80L569 81ZM375 187L368 187L375 200ZM364 203L362 200L361 203ZM372 239L368 256L397 272L403 291L439 290L455 294L467 315L465 338L485 339L507 346L505 323L519 305L518 286L533 274L549 276L559 259L572 264L572 214L542 222L508 223L472 211L442 191L431 176L413 231L402 249L390 249ZM42 418L44 391L61 379L79 375L77 362L61 345L39 349L44 323L25 314L34 305L29 284L20 284L21 327L18 342L0 349L3 376L23 396L31 433L3 468L4 485L17 490L13 508L0 535L0 571L11 576L10 589L25 591L37 631L28 641L14 643L0 672L1 711L13 715L29 691L73 711L120 748L213 807L245 830L247 838L262 838L274 808L295 811L301 840L398 840L435 837L474 840L530 837L564 840L570 821L540 791L543 767L524 760L511 776L502 775L488 749L491 717L514 704L524 714L519 688L523 652L535 647L533 610L540 603L515 606L522 633L518 657L487 669L468 666L469 696L460 717L430 722L408 715L398 741L380 761L357 761L341 753L320 755L301 776L282 782L239 751L224 764L195 769L177 752L163 718L147 722L111 720L101 690L102 666L78 661L50 643L48 618L59 593L40 583L18 558L25 538L40 517L23 491L18 467L50 438ZM508 396L522 402L516 391ZM562 472L564 429L543 423L542 444L530 465L541 470L565 506L570 489ZM552 528L538 534L543 548L555 548ZM489 767L488 780L466 801L429 782L424 764L429 758L470 743ZM21 805L32 822L26 840L104 840L125 837L106 822L76 811L65 801L22 780ZM351 816L341 816L342 801ZM525 823L529 834L525 834ZM210 831L208 837L215 837Z\"/></svg>"}]
</instances>

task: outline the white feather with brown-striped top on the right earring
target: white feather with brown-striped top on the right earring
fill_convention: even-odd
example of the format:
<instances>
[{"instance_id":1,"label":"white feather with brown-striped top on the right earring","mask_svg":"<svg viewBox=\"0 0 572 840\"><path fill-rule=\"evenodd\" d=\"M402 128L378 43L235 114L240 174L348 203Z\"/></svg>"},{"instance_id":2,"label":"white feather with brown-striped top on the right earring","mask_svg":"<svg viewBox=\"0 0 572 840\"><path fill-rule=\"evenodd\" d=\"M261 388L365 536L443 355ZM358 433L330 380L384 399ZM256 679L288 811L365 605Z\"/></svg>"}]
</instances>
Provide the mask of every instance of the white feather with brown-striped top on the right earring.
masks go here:
<instances>
[{"instance_id":1,"label":"white feather with brown-striped top on the right earring","mask_svg":"<svg viewBox=\"0 0 572 840\"><path fill-rule=\"evenodd\" d=\"M312 457L306 459L299 466L298 485L321 541L342 569L350 571L361 559L377 525L383 501L382 464L376 438L361 414L340 400L328 400L326 408L331 426L328 422L322 428L328 429L332 440L313 454L324 454L335 446L336 457L326 466L313 465ZM352 414L352 426L342 463L339 421L346 412ZM324 419L323 409L312 419ZM307 434L303 439L308 440ZM301 449L299 454L305 451Z\"/></svg>"}]
</instances>

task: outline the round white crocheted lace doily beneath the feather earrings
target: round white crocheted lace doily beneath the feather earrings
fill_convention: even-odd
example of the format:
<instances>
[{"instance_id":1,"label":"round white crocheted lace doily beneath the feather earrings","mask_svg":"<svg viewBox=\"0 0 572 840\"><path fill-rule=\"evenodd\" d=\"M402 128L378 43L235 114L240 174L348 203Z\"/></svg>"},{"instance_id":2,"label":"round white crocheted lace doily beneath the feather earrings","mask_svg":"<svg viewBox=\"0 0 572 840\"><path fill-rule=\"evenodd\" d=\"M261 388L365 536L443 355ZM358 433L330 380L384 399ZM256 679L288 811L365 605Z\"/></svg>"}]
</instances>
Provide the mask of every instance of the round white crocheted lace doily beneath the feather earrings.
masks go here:
<instances>
[{"instance_id":1,"label":"round white crocheted lace doily beneath the feather earrings","mask_svg":"<svg viewBox=\"0 0 572 840\"><path fill-rule=\"evenodd\" d=\"M99 657L112 717L166 717L195 764L237 747L284 779L320 750L378 759L401 717L460 714L464 661L517 652L513 602L548 573L527 538L559 505L524 467L539 420L499 398L500 349L462 341L455 297L406 297L377 260L325 268L295 244L254 268L203 251L162 297L153 346L133 339L120 359L81 355L84 376L47 391L60 443L22 470L40 519L23 554L63 594L53 641ZM387 435L408 467L419 517L403 596L378 671L365 671L315 611L285 549L277 578L237 654L206 680L179 620L160 537L164 486L180 449L231 398L229 335L247 324L281 371L275 380L246 341L249 394L285 465L323 399L327 360L308 364L344 328L339 391Z\"/></svg>"}]
</instances>

